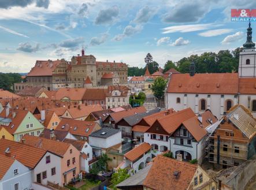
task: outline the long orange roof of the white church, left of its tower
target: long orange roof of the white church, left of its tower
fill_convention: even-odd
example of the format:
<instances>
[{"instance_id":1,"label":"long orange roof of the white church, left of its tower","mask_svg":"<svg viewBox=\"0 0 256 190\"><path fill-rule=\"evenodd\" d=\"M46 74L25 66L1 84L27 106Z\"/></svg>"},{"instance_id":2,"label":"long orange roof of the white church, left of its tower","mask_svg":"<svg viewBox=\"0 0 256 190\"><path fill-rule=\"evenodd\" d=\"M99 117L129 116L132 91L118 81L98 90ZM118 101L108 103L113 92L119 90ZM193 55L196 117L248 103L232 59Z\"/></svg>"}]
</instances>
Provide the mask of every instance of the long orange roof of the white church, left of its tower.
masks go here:
<instances>
[{"instance_id":1,"label":"long orange roof of the white church, left of its tower","mask_svg":"<svg viewBox=\"0 0 256 190\"><path fill-rule=\"evenodd\" d=\"M238 94L238 73L172 74L167 92Z\"/></svg>"}]
</instances>

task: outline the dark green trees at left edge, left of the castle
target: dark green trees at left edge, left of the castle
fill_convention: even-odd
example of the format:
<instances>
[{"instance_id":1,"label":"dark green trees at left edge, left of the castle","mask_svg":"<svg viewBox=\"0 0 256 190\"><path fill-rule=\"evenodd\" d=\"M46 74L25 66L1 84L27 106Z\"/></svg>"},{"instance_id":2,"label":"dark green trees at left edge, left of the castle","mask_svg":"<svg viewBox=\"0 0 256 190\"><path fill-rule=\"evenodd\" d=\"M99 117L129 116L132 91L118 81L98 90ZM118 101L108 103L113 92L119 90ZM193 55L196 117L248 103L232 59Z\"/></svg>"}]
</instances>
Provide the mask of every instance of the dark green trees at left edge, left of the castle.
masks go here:
<instances>
[{"instance_id":1,"label":"dark green trees at left edge, left of the castle","mask_svg":"<svg viewBox=\"0 0 256 190\"><path fill-rule=\"evenodd\" d=\"M13 83L20 83L21 76L18 73L0 73L0 88L12 91Z\"/></svg>"}]
</instances>

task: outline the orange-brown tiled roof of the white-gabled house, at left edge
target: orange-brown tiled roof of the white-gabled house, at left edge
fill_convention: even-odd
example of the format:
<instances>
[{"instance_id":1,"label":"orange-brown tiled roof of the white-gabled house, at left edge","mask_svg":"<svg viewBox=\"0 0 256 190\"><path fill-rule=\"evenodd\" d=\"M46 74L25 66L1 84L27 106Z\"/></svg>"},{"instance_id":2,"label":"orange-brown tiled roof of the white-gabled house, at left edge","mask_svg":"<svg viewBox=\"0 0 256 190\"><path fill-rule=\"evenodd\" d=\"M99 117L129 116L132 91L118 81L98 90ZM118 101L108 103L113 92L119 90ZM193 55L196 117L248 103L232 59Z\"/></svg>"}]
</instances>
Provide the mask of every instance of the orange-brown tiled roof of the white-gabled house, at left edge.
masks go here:
<instances>
[{"instance_id":1,"label":"orange-brown tiled roof of the white-gabled house, at left edge","mask_svg":"<svg viewBox=\"0 0 256 190\"><path fill-rule=\"evenodd\" d=\"M12 140L0 139L0 154L5 154L6 148L9 148L11 158L17 159L17 161L31 169L37 165L46 153L46 150L40 148L35 148Z\"/></svg>"}]
</instances>

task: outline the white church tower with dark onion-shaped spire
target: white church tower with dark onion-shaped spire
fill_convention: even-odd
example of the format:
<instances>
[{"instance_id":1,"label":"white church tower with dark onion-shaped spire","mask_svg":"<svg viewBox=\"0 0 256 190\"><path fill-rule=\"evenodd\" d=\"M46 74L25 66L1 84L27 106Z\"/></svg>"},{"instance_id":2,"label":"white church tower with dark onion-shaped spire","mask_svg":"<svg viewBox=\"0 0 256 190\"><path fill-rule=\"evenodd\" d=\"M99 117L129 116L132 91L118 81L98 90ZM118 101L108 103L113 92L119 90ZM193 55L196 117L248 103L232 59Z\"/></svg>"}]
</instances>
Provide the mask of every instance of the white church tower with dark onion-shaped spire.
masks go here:
<instances>
[{"instance_id":1,"label":"white church tower with dark onion-shaped spire","mask_svg":"<svg viewBox=\"0 0 256 190\"><path fill-rule=\"evenodd\" d=\"M243 50L239 54L238 73L240 78L256 77L256 51L252 40L253 29L251 22L247 28L247 40L243 44Z\"/></svg>"}]
</instances>

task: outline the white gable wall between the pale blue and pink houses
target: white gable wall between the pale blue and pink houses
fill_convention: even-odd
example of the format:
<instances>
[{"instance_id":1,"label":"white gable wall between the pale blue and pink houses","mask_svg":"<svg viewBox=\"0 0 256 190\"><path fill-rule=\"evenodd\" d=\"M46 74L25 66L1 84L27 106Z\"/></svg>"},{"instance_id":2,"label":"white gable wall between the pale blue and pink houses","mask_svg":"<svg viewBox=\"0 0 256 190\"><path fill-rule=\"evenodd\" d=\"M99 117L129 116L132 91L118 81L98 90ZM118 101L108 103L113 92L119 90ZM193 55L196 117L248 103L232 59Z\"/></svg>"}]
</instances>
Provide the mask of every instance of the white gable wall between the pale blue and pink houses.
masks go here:
<instances>
[{"instance_id":1,"label":"white gable wall between the pale blue and pink houses","mask_svg":"<svg viewBox=\"0 0 256 190\"><path fill-rule=\"evenodd\" d=\"M50 155L50 163L46 163L46 157ZM55 167L56 174L51 176L51 168ZM43 179L43 172L47 172L47 178ZM36 175L41 173L41 181L43 184L46 184L47 181L51 181L54 184L62 185L61 183L61 158L57 157L50 152L46 152L43 158L40 160L38 165L36 165L35 169L33 170L33 181L36 182Z\"/></svg>"}]
</instances>

